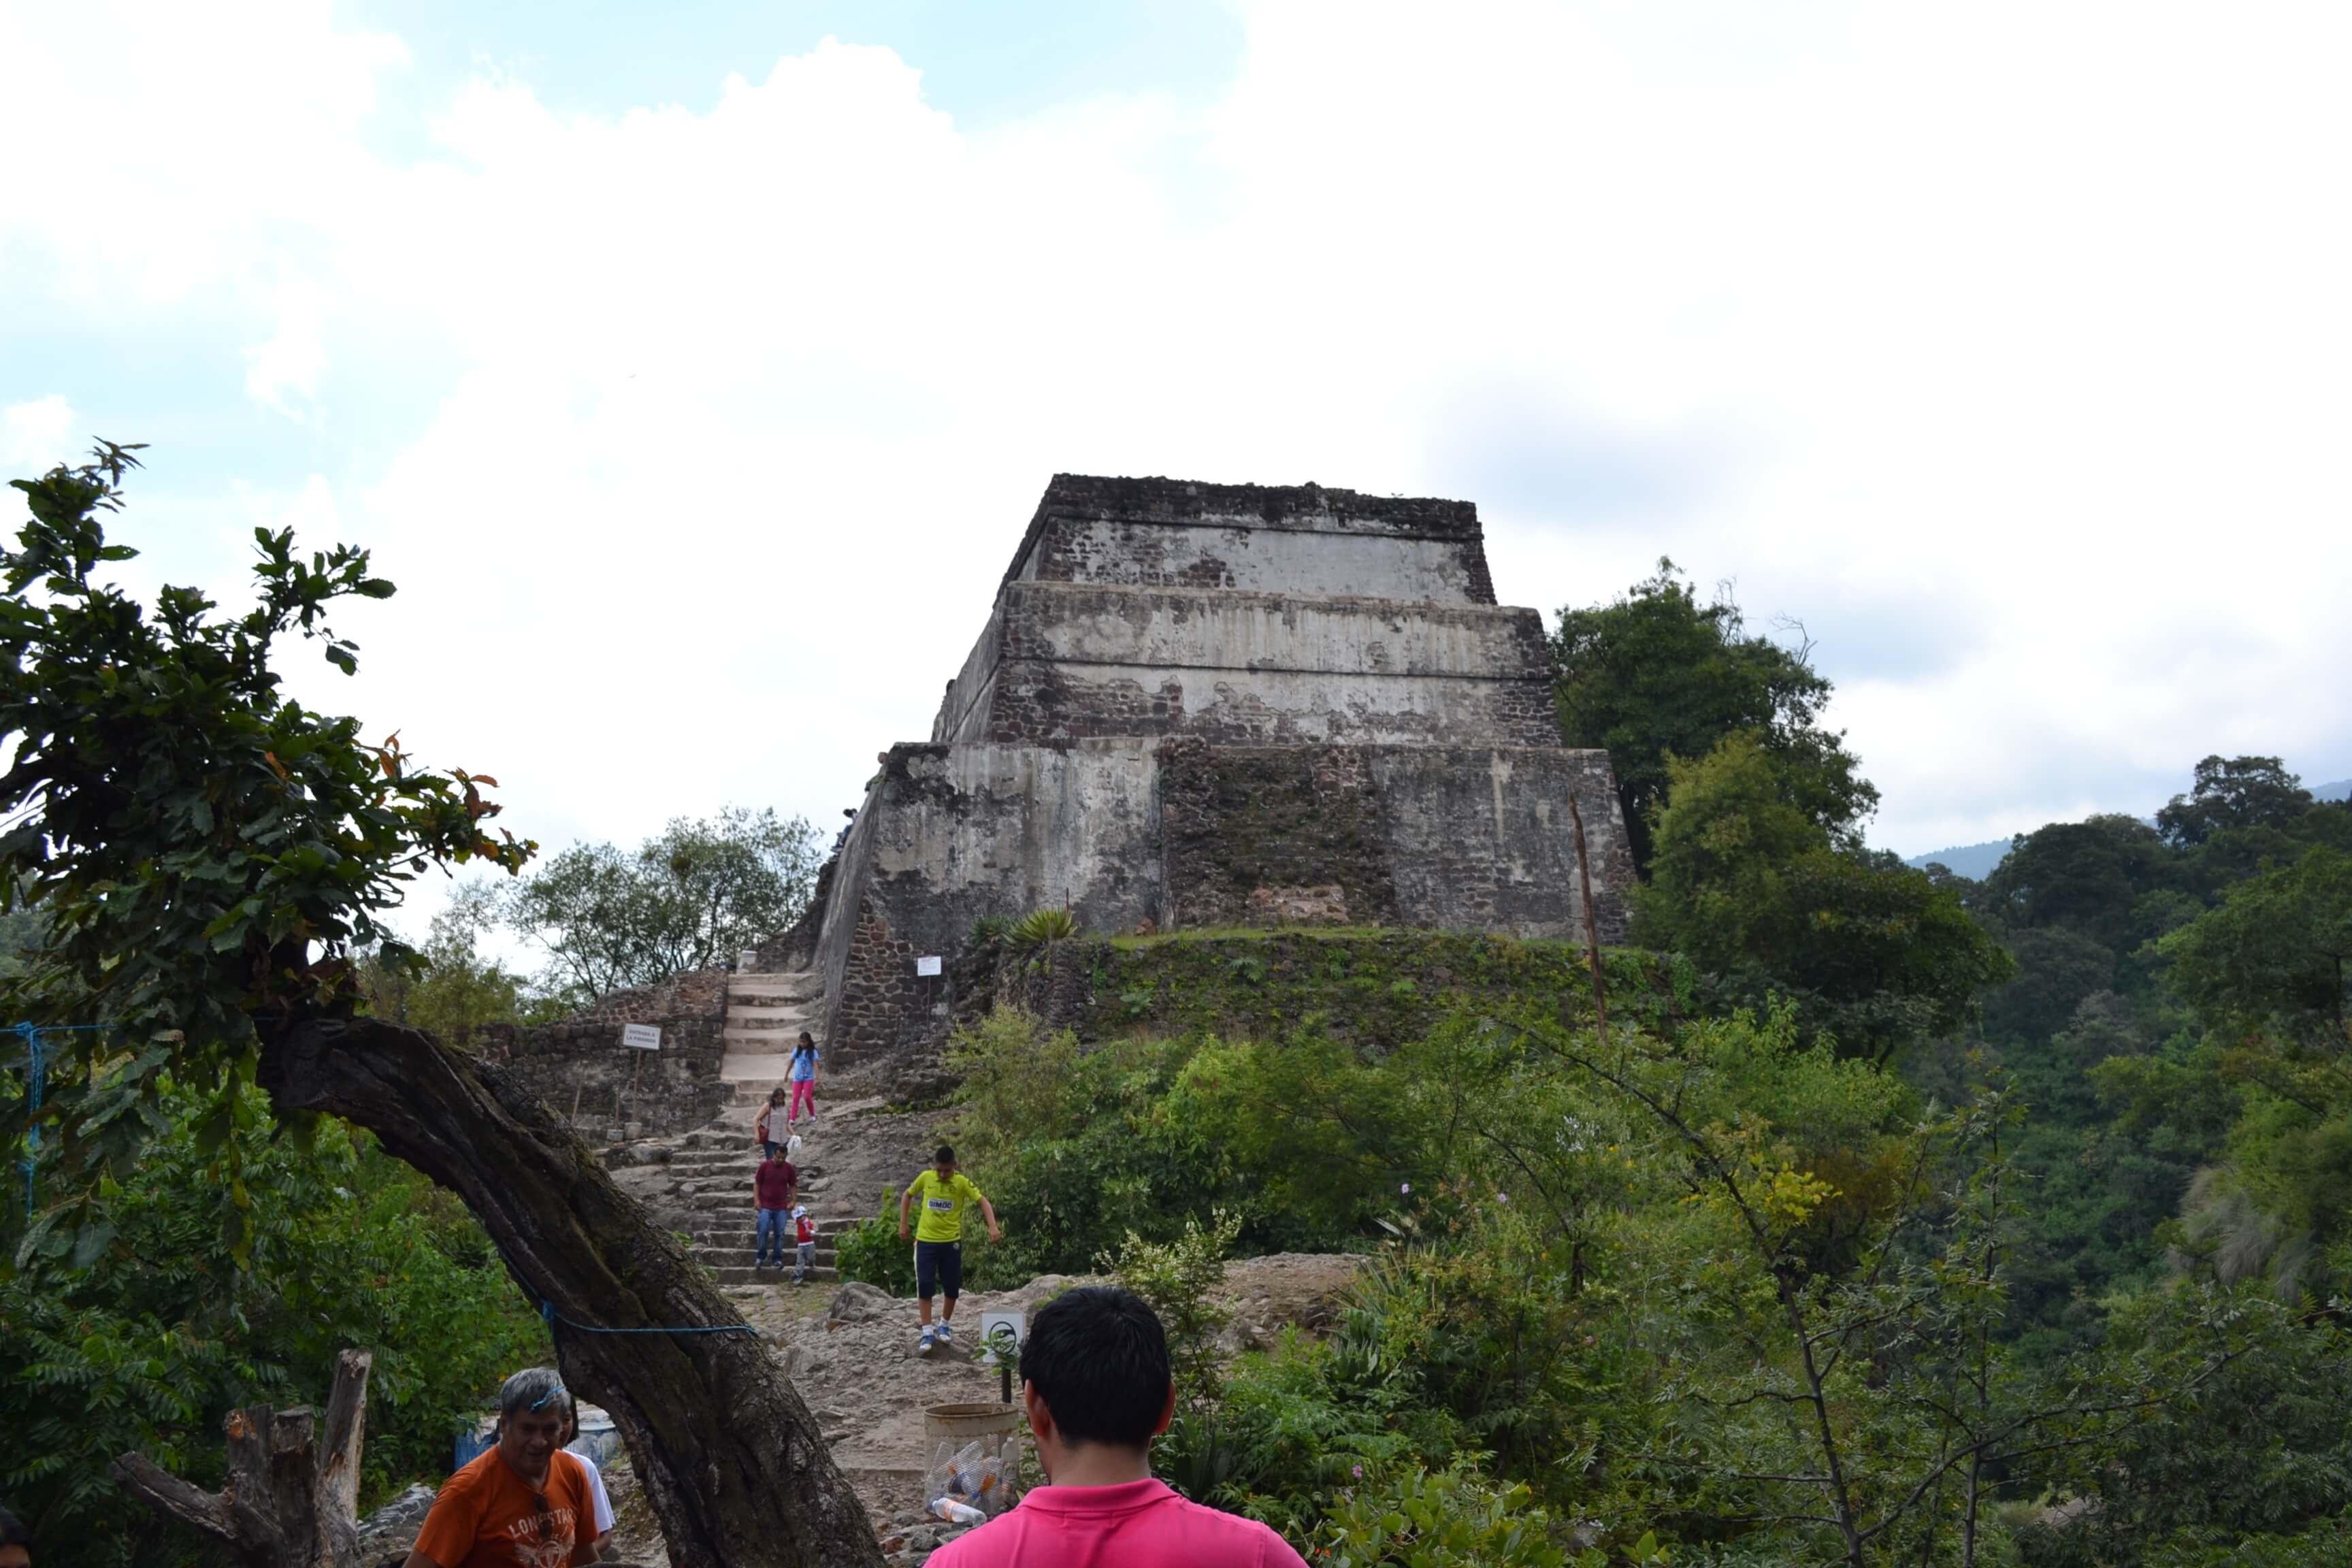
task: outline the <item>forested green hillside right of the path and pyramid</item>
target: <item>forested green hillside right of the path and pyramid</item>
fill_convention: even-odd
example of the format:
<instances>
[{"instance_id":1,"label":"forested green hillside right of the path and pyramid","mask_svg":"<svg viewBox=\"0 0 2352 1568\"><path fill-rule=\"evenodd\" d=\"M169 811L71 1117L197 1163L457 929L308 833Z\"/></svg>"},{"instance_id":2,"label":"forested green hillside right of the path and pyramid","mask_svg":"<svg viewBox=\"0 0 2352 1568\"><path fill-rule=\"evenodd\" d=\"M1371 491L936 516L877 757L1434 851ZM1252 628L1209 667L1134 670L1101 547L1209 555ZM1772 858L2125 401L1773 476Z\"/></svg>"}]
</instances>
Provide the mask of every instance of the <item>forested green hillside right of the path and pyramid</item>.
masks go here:
<instances>
[{"instance_id":1,"label":"forested green hillside right of the path and pyramid","mask_svg":"<svg viewBox=\"0 0 2352 1568\"><path fill-rule=\"evenodd\" d=\"M1828 682L1672 569L1555 656L1644 823L1597 978L1110 938L1016 959L1089 971L1094 1044L962 1037L997 1279L1374 1255L1329 1340L1200 1366L1162 1472L1334 1561L2345 1561L2352 809L2209 757L1931 875L1863 846Z\"/></svg>"}]
</instances>

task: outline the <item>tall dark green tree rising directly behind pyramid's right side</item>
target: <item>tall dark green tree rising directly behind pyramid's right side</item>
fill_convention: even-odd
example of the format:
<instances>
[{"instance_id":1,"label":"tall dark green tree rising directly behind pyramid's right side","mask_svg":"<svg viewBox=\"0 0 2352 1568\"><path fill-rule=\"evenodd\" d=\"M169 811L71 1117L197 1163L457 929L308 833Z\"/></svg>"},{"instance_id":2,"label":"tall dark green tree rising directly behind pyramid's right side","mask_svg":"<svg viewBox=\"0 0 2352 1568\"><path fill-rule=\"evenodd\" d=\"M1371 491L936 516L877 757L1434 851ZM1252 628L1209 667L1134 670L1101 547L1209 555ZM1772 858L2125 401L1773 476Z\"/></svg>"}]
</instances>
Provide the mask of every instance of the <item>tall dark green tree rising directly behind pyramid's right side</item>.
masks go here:
<instances>
[{"instance_id":1,"label":"tall dark green tree rising directly behind pyramid's right side","mask_svg":"<svg viewBox=\"0 0 2352 1568\"><path fill-rule=\"evenodd\" d=\"M1552 682L1562 738L1609 752L1635 870L1649 870L1670 759L1705 757L1733 731L1757 733L1797 811L1842 844L1879 804L1844 733L1820 729L1830 682L1806 649L1750 635L1729 597L1700 604L1670 559L1613 604L1559 611Z\"/></svg>"}]
</instances>

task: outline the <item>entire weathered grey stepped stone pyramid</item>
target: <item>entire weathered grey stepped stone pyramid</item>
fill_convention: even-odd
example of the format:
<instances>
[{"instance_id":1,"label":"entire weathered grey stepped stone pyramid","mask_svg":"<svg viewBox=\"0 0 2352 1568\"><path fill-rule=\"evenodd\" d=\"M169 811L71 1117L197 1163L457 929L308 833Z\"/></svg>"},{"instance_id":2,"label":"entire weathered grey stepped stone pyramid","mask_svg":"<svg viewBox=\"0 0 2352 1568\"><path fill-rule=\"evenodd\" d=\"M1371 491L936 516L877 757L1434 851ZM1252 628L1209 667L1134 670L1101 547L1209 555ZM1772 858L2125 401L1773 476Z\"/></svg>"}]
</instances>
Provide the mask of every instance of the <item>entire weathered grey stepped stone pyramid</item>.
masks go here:
<instances>
[{"instance_id":1,"label":"entire weathered grey stepped stone pyramid","mask_svg":"<svg viewBox=\"0 0 2352 1568\"><path fill-rule=\"evenodd\" d=\"M1475 505L1056 475L931 738L889 750L776 950L823 969L851 1065L938 1037L985 914L1581 938L1571 799L1623 940L1609 755L1559 745Z\"/></svg>"}]
</instances>

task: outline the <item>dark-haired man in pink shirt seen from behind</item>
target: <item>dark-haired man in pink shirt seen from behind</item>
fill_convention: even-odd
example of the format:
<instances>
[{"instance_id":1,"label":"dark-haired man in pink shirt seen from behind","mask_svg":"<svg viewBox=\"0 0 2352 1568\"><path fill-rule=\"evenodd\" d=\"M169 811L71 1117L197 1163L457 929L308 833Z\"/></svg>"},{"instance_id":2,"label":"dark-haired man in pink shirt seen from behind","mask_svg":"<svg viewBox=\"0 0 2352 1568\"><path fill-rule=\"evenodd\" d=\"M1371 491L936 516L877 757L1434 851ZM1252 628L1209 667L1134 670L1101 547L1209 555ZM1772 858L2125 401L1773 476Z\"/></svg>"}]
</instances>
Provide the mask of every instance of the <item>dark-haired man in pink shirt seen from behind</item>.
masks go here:
<instances>
[{"instance_id":1,"label":"dark-haired man in pink shirt seen from behind","mask_svg":"<svg viewBox=\"0 0 2352 1568\"><path fill-rule=\"evenodd\" d=\"M1138 1295L1056 1295L1021 1347L1021 1403L1047 1486L931 1554L931 1568L1305 1568L1254 1519L1185 1502L1152 1481L1169 1429L1169 1340Z\"/></svg>"}]
</instances>

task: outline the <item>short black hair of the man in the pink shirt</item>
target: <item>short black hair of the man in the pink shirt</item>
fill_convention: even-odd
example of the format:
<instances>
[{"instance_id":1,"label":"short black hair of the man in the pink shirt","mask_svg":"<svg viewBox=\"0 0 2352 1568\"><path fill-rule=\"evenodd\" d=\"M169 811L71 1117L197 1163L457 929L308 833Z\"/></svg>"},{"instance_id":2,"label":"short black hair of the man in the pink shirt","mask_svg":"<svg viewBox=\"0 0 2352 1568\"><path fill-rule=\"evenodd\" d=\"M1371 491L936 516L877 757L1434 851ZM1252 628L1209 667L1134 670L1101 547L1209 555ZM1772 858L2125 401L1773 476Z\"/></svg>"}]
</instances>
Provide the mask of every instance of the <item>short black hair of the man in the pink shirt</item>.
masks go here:
<instances>
[{"instance_id":1,"label":"short black hair of the man in the pink shirt","mask_svg":"<svg viewBox=\"0 0 2352 1568\"><path fill-rule=\"evenodd\" d=\"M1134 1291L1080 1286L1044 1305L1021 1380L1073 1443L1145 1448L1169 1403L1169 1338Z\"/></svg>"}]
</instances>

